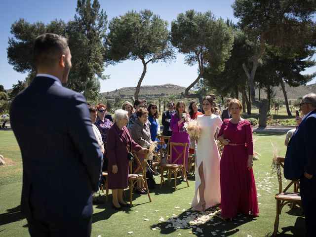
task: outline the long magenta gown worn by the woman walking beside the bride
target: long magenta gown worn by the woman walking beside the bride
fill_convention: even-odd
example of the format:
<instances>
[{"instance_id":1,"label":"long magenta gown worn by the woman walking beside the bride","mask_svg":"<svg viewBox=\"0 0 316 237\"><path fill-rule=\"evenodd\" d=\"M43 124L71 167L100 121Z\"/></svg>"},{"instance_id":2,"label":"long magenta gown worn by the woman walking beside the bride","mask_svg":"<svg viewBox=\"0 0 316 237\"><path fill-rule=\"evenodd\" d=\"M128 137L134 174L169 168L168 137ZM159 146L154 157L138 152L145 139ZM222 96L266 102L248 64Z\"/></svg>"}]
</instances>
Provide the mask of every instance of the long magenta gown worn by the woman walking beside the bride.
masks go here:
<instances>
[{"instance_id":1,"label":"long magenta gown worn by the woman walking beside the bride","mask_svg":"<svg viewBox=\"0 0 316 237\"><path fill-rule=\"evenodd\" d=\"M252 130L248 120L232 123L225 119L218 137L223 135L237 146L225 146L220 163L221 209L225 218L237 212L259 213L253 170L248 170L248 155L253 155ZM241 145L243 144L243 145Z\"/></svg>"}]
</instances>

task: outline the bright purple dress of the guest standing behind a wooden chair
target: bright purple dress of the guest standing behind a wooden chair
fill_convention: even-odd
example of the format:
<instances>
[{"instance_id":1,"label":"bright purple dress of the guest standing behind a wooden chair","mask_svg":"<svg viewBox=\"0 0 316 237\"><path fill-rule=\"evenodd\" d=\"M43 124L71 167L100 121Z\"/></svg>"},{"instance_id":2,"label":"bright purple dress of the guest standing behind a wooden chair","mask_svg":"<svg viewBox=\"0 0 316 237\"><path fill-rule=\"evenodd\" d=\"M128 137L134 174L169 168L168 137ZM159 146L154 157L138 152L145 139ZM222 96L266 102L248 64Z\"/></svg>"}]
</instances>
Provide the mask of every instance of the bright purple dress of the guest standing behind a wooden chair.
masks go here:
<instances>
[{"instance_id":1,"label":"bright purple dress of the guest standing behind a wooden chair","mask_svg":"<svg viewBox=\"0 0 316 237\"><path fill-rule=\"evenodd\" d=\"M173 114L171 116L170 129L172 130L172 135L170 138L170 142L182 142L182 143L187 142L188 143L186 157L185 157L185 167L187 167L190 136L183 127L184 123L181 123L180 126L178 125L178 122L180 121L180 119L181 118L178 118L177 114ZM179 147L179 148L177 148L177 151L181 154L181 152L183 151L183 148ZM178 154L175 151L171 151L171 156L172 156L172 160L174 160L178 157ZM183 159L181 159L181 160L178 159L177 163L183 164Z\"/></svg>"}]
</instances>

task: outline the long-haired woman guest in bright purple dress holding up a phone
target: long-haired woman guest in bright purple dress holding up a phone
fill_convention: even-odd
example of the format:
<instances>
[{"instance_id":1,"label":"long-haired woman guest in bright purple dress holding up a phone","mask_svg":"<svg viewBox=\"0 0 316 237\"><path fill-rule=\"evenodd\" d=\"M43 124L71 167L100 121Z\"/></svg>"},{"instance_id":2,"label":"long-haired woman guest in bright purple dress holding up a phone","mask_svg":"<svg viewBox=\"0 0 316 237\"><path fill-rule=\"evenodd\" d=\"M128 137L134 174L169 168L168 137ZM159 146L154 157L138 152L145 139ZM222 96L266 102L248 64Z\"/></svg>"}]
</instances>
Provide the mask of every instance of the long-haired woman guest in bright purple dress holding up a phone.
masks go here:
<instances>
[{"instance_id":1,"label":"long-haired woman guest in bright purple dress holding up a phone","mask_svg":"<svg viewBox=\"0 0 316 237\"><path fill-rule=\"evenodd\" d=\"M189 144L190 144L190 136L187 133L187 130L184 127L184 123L190 119L188 113L186 112L186 105L183 101L179 101L176 105L176 112L172 115L170 121L170 128L172 130L172 135L170 138L170 142L181 142L188 143L184 169L187 170L187 162L188 162L188 154L189 154ZM178 152L181 153L183 148L177 148ZM177 153L175 151L171 151L171 155L173 158L177 158ZM171 160L172 161L172 160ZM178 159L177 163L183 164L183 159ZM181 174L183 181L186 181L184 178L184 174Z\"/></svg>"}]
</instances>

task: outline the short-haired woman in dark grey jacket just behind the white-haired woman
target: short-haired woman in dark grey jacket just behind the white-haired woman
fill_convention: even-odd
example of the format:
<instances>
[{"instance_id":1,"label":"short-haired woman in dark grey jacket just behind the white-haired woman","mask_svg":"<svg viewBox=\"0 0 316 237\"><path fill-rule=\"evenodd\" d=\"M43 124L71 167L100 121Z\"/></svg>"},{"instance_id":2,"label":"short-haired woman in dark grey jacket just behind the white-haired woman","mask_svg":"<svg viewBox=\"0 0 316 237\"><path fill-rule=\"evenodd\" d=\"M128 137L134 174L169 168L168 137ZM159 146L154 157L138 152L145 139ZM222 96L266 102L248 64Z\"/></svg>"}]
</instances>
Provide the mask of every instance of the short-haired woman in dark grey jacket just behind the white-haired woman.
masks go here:
<instances>
[{"instance_id":1,"label":"short-haired woman in dark grey jacket just behind the white-haired woman","mask_svg":"<svg viewBox=\"0 0 316 237\"><path fill-rule=\"evenodd\" d=\"M136 116L137 116L137 119L135 120L135 123L132 127L131 137L141 147L149 148L153 142L151 139L149 126L147 125L148 111L146 109L139 109L136 112ZM142 162L144 157L139 156L139 159ZM135 167L133 168L136 168L136 164L135 164ZM147 194L143 181L137 182L136 193Z\"/></svg>"}]
</instances>

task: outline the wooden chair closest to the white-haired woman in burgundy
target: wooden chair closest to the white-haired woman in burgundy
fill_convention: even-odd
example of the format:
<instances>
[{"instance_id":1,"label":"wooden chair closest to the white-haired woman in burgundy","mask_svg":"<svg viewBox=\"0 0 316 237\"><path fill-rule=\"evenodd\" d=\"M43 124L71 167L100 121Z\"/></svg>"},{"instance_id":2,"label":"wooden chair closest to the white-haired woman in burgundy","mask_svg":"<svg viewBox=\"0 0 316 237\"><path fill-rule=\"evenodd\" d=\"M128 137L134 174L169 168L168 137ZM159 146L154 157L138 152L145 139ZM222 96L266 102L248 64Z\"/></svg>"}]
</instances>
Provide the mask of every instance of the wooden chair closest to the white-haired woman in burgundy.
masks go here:
<instances>
[{"instance_id":1,"label":"wooden chair closest to the white-haired woman in burgundy","mask_svg":"<svg viewBox=\"0 0 316 237\"><path fill-rule=\"evenodd\" d=\"M138 158L137 154L133 152L134 156L134 162L137 163L137 168L133 172L133 162L129 162L129 174L128 174L128 183L129 183L129 205L133 206L133 189L137 182L140 182L141 180L144 181L146 192L149 198L149 201L152 201L152 198L150 197L148 185L147 185L147 179L146 179L146 165L147 165L147 157L148 157L149 151L145 151L144 160L140 162L140 159ZM141 172L140 174L137 174L138 172Z\"/></svg>"}]
</instances>

